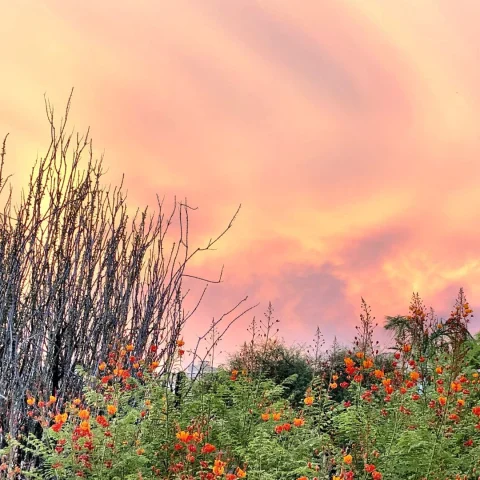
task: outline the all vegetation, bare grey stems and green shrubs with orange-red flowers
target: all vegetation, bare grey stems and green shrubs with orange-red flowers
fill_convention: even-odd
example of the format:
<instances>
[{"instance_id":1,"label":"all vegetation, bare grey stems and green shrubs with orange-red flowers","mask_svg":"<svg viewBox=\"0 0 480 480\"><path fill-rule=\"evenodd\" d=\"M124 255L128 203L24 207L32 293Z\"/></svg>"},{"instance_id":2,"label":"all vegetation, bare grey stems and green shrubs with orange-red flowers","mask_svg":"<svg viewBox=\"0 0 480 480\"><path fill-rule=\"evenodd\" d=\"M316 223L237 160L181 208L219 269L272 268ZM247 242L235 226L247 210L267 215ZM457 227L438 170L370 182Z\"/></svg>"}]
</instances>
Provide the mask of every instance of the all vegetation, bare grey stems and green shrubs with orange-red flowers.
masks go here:
<instances>
[{"instance_id":1,"label":"all vegetation, bare grey stems and green shrubs with orange-red flowers","mask_svg":"<svg viewBox=\"0 0 480 480\"><path fill-rule=\"evenodd\" d=\"M415 294L386 319L386 353L364 301L352 345L327 352L319 330L308 350L280 342L270 305L228 367L190 379L182 281L221 235L191 252L183 203L129 219L87 138L48 112L48 154L0 215L0 478L479 478L480 338L463 290L445 321ZM5 144L1 191L4 158Z\"/></svg>"}]
</instances>

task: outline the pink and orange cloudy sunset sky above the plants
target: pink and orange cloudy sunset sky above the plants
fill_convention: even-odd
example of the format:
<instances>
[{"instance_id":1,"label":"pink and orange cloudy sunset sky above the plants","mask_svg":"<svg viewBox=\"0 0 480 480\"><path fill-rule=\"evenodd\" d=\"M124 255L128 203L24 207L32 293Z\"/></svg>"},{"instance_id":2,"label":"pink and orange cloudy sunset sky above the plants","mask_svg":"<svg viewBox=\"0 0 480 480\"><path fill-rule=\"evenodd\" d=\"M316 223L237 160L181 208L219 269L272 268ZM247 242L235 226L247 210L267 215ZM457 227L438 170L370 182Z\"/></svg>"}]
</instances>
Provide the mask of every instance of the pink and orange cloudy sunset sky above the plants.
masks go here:
<instances>
[{"instance_id":1,"label":"pink and orange cloudy sunset sky above the plants","mask_svg":"<svg viewBox=\"0 0 480 480\"><path fill-rule=\"evenodd\" d=\"M477 0L1 2L0 136L25 183L48 146L46 95L90 126L132 206L198 207L192 244L238 218L192 272L210 285L186 337L248 296L289 343L352 340L413 292L480 306ZM475 313L475 312L474 312ZM480 323L473 320L473 329Z\"/></svg>"}]
</instances>

